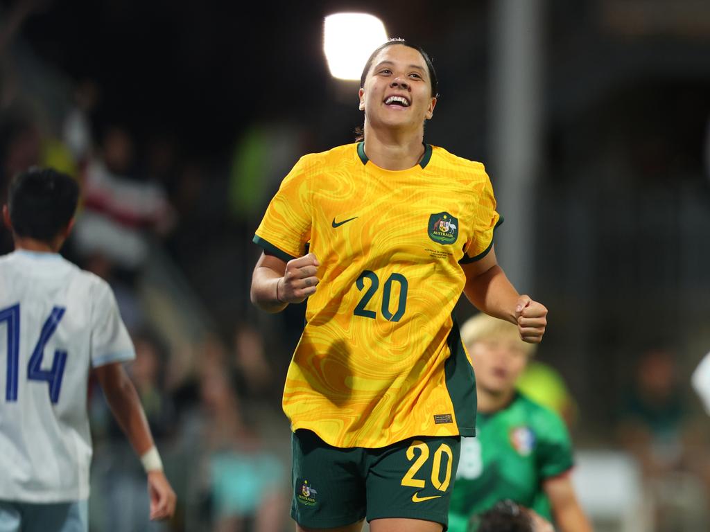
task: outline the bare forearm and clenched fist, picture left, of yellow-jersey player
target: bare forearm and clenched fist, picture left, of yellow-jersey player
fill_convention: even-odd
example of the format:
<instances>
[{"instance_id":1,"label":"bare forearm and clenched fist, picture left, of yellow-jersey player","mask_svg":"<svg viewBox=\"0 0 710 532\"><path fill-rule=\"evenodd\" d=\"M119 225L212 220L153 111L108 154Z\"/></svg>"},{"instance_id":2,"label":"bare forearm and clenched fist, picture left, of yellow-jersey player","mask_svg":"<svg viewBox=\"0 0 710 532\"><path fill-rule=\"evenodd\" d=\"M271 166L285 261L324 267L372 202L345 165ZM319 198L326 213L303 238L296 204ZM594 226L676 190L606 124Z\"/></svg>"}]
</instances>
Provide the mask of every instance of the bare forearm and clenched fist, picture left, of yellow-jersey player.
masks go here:
<instances>
[{"instance_id":1,"label":"bare forearm and clenched fist, picture left, of yellow-jersey player","mask_svg":"<svg viewBox=\"0 0 710 532\"><path fill-rule=\"evenodd\" d=\"M267 312L280 312L315 294L320 262L313 253L285 262L261 253L251 276L251 302Z\"/></svg>"}]
</instances>

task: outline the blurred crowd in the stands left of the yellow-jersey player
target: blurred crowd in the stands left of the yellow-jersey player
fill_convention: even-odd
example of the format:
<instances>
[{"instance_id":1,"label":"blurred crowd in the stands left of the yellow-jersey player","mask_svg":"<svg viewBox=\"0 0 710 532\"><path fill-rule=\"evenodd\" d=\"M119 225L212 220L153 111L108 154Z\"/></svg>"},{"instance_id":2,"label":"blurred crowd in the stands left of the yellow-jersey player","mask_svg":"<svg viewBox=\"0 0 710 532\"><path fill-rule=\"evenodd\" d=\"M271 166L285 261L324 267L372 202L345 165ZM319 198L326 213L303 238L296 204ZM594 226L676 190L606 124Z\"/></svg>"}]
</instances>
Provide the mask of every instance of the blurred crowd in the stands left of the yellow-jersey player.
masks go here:
<instances>
[{"instance_id":1,"label":"blurred crowd in the stands left of the yellow-jersey player","mask_svg":"<svg viewBox=\"0 0 710 532\"><path fill-rule=\"evenodd\" d=\"M256 250L248 249L246 221L234 215L239 205L230 204L249 192L249 184L230 182L233 174L251 164L249 179L263 183L266 154L235 157L242 168L230 170L228 160L222 167L190 160L170 132L138 143L120 116L97 123L102 87L67 82L26 61L13 42L34 6L18 2L0 18L0 203L11 177L31 166L80 182L62 254L114 289L136 345L128 369L179 500L173 521L148 523L145 474L92 382L92 529L283 530L290 442L280 375L290 347L280 334L265 338L250 314ZM2 228L0 254L11 250Z\"/></svg>"}]
</instances>

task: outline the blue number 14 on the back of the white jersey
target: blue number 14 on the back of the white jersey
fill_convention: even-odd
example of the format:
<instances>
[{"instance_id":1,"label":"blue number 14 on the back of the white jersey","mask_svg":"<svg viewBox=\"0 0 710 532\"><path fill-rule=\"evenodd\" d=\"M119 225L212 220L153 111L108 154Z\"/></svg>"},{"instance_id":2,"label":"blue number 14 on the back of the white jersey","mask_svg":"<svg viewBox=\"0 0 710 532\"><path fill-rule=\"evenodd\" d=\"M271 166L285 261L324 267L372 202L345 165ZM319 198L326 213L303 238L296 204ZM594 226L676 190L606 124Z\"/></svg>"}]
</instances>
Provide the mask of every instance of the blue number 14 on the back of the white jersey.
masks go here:
<instances>
[{"instance_id":1,"label":"blue number 14 on the back of the white jersey","mask_svg":"<svg viewBox=\"0 0 710 532\"><path fill-rule=\"evenodd\" d=\"M29 380L46 381L49 384L49 398L53 403L59 401L59 392L62 387L62 377L64 376L64 367L67 363L67 352L56 350L54 352L54 360L52 361L52 369L42 369L42 358L44 356L45 345L54 331L57 330L59 322L62 321L64 311L62 306L55 306L52 313L49 315L42 331L40 338L37 340L32 351L32 356L27 364L27 378ZM8 402L17 401L17 384L20 362L20 304L9 306L6 309L0 310L0 323L7 322L7 382L5 387L5 399Z\"/></svg>"}]
</instances>

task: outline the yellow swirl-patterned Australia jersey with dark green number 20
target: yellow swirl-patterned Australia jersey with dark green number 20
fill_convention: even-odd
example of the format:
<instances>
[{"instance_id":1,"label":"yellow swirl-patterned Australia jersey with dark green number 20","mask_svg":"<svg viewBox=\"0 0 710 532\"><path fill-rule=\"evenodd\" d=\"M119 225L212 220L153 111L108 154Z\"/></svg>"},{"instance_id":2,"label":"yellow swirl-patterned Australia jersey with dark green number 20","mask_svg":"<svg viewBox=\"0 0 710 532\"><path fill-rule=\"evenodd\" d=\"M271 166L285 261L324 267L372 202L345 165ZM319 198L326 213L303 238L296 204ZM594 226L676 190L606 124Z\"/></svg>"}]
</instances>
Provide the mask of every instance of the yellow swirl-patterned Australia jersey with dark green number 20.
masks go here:
<instances>
[{"instance_id":1,"label":"yellow swirl-patterned Australia jersey with dark green number 20","mask_svg":"<svg viewBox=\"0 0 710 532\"><path fill-rule=\"evenodd\" d=\"M320 261L286 377L283 409L337 447L411 436L473 436L476 388L452 318L459 262L491 249L498 223L484 166L427 145L384 170L363 143L301 157L254 242Z\"/></svg>"}]
</instances>

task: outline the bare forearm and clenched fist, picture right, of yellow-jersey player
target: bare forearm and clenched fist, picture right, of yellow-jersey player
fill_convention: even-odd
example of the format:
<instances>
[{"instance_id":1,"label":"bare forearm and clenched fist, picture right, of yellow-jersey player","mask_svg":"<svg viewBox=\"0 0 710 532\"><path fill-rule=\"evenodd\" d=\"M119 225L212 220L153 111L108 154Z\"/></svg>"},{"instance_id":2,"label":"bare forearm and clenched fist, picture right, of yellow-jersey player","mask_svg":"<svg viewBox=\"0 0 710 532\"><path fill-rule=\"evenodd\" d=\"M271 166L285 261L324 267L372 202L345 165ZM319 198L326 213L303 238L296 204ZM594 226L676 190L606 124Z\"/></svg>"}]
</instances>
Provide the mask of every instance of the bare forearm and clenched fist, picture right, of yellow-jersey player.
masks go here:
<instances>
[{"instance_id":1,"label":"bare forearm and clenched fist, picture right, of yellow-jersey player","mask_svg":"<svg viewBox=\"0 0 710 532\"><path fill-rule=\"evenodd\" d=\"M461 264L466 274L464 294L477 309L518 326L520 338L539 343L547 326L547 308L528 295L520 295L498 265L496 250L481 259Z\"/></svg>"}]
</instances>

